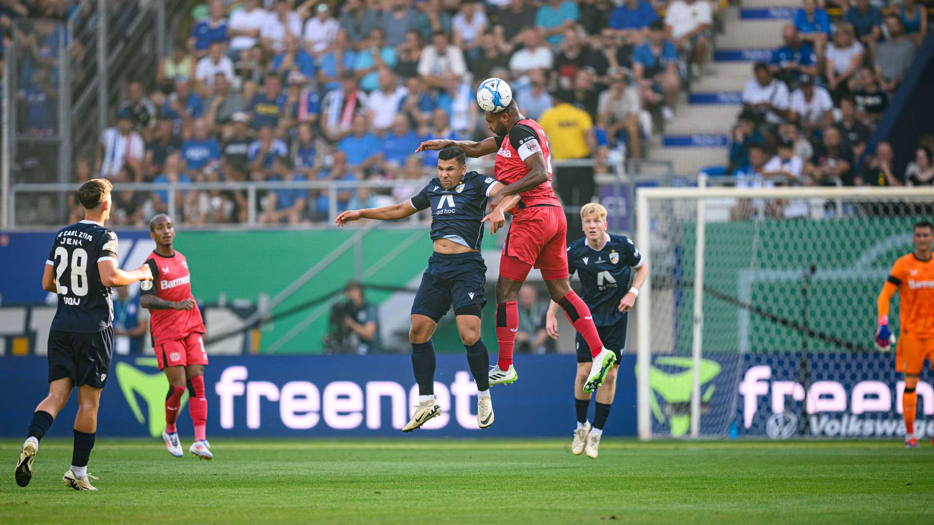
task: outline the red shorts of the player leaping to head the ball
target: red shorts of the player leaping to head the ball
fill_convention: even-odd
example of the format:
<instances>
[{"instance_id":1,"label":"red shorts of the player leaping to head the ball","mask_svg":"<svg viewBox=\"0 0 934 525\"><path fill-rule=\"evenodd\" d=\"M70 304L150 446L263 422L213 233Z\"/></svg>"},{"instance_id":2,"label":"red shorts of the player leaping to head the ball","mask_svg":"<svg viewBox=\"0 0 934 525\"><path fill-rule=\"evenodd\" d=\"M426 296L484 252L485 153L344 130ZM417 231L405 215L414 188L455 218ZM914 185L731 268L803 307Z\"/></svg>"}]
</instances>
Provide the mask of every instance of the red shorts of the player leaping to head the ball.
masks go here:
<instances>
[{"instance_id":1,"label":"red shorts of the player leaping to head the ball","mask_svg":"<svg viewBox=\"0 0 934 525\"><path fill-rule=\"evenodd\" d=\"M500 275L523 282L534 266L545 280L568 277L568 220L561 206L531 206L513 217L502 245Z\"/></svg>"}]
</instances>

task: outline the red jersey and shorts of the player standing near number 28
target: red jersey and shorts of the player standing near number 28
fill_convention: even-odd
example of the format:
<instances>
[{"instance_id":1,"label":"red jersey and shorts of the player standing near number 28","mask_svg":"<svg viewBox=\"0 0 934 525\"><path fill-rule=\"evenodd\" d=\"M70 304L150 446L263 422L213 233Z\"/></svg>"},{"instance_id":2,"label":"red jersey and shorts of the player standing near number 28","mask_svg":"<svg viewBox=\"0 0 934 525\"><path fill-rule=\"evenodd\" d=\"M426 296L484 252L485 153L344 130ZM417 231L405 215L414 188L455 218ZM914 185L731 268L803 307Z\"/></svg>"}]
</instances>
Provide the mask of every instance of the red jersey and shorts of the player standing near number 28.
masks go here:
<instances>
[{"instance_id":1,"label":"red jersey and shorts of the player standing near number 28","mask_svg":"<svg viewBox=\"0 0 934 525\"><path fill-rule=\"evenodd\" d=\"M146 263L152 270L152 282L149 290L141 287L140 294L153 294L164 301L173 302L193 299L188 261L179 251L172 257L164 257L153 251ZM156 352L160 370L166 366L207 364L205 344L201 338L205 333L205 321L198 305L194 305L191 310L152 309L150 312L152 348Z\"/></svg>"}]
</instances>

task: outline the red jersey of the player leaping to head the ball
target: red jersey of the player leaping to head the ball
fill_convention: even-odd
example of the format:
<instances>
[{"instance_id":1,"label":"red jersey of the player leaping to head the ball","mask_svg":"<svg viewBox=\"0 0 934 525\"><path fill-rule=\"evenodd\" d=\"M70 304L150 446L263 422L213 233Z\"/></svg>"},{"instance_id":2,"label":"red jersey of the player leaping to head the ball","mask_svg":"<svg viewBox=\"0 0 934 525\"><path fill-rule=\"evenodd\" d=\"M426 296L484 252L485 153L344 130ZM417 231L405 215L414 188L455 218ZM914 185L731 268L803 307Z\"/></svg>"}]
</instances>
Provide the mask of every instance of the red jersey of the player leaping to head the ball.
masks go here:
<instances>
[{"instance_id":1,"label":"red jersey of the player leaping to head the ball","mask_svg":"<svg viewBox=\"0 0 934 525\"><path fill-rule=\"evenodd\" d=\"M538 122L531 119L516 122L508 135L496 137L496 144L500 149L496 152L493 176L503 184L512 184L529 175L529 166L525 165L525 160L530 155L541 151L545 157L548 179L528 192L519 193L522 200L509 210L510 213L516 215L518 210L534 205L561 206L551 189L551 149L548 148L548 137Z\"/></svg>"}]
</instances>

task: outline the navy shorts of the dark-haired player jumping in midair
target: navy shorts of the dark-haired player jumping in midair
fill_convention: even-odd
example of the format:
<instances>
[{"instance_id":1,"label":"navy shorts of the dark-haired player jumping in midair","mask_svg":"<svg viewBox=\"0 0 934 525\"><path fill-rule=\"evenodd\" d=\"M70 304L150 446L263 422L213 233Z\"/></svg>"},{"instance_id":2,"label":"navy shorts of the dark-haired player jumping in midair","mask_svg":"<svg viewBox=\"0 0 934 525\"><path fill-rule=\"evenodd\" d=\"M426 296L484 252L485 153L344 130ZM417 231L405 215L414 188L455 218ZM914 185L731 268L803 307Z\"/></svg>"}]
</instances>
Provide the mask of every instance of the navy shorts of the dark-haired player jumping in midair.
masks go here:
<instances>
[{"instance_id":1,"label":"navy shorts of the dark-haired player jumping in midair","mask_svg":"<svg viewBox=\"0 0 934 525\"><path fill-rule=\"evenodd\" d=\"M465 306L478 305L482 309L487 304L483 298L486 283L487 265L480 252L451 255L434 252L421 276L412 313L438 322L452 305L456 315Z\"/></svg>"}]
</instances>

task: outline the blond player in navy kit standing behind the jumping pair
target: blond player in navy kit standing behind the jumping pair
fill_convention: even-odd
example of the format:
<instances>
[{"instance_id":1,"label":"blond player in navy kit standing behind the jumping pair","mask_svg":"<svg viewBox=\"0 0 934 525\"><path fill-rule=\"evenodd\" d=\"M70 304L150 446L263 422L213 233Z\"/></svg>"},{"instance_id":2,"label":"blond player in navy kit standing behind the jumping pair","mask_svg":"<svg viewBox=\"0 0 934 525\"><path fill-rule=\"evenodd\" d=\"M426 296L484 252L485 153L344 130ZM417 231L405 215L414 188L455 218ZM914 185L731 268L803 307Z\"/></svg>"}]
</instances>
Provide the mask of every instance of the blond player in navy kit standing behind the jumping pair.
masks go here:
<instances>
[{"instance_id":1,"label":"blond player in navy kit standing behind the jumping pair","mask_svg":"<svg viewBox=\"0 0 934 525\"><path fill-rule=\"evenodd\" d=\"M577 334L577 377L574 380L574 408L577 428L574 430L571 451L580 455L587 449L587 457L597 458L603 425L610 415L610 405L616 394L616 370L626 344L626 318L636 302L639 289L648 277L648 266L639 250L623 235L606 233L606 208L595 203L581 207L581 223L585 237L568 247L568 272L581 278L581 298L590 309L593 323L605 348L616 354L616 365L606 371L602 386L597 390L595 418L591 426L587 421L590 392L584 391L593 360L590 348L580 333ZM635 269L632 288L631 269ZM571 277L568 277L570 280ZM545 332L558 339L558 303L551 302L545 320Z\"/></svg>"}]
</instances>

